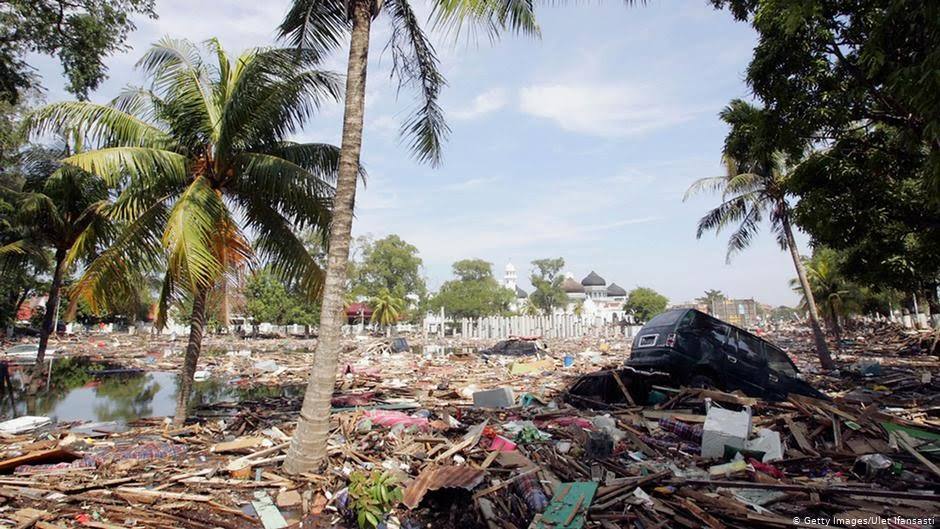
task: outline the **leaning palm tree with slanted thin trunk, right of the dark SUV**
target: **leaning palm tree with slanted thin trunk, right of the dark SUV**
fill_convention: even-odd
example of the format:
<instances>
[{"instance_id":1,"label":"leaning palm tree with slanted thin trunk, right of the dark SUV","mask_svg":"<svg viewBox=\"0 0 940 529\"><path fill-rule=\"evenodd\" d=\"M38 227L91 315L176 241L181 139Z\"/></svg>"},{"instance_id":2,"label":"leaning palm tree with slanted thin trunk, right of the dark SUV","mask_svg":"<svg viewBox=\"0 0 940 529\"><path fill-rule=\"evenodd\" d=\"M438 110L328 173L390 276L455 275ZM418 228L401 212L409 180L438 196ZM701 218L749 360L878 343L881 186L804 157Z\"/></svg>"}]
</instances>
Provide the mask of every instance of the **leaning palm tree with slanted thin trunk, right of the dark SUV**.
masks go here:
<instances>
[{"instance_id":1,"label":"leaning palm tree with slanted thin trunk, right of the dark SUV","mask_svg":"<svg viewBox=\"0 0 940 529\"><path fill-rule=\"evenodd\" d=\"M764 216L768 216L778 244L789 250L793 259L806 298L819 362L824 369L833 369L835 364L829 355L813 292L793 237L791 210L787 203L787 156L774 145L771 118L766 111L740 99L732 101L720 116L731 126L722 150L727 174L699 179L685 194L685 199L688 199L705 190L721 192L721 204L699 220L696 237L701 238L706 231L718 232L736 225L728 239L727 260L730 262L735 252L747 248L760 229Z\"/></svg>"}]
</instances>

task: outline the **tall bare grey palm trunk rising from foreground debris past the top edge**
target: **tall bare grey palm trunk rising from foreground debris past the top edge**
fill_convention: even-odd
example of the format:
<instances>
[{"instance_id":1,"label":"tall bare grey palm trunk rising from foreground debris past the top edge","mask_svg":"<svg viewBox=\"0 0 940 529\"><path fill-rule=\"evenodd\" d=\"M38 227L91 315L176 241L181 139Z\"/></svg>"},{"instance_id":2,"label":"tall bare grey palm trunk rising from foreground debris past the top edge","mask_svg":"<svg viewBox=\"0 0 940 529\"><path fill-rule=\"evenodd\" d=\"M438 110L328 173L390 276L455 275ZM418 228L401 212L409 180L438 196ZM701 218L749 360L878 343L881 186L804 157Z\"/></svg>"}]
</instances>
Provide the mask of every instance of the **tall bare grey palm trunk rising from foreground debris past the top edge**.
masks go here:
<instances>
[{"instance_id":1,"label":"tall bare grey palm trunk rising from foreground debris past the top edge","mask_svg":"<svg viewBox=\"0 0 940 529\"><path fill-rule=\"evenodd\" d=\"M284 470L290 474L316 470L326 458L326 440L330 432L330 400L336 384L340 334L345 320L343 290L346 284L353 205L359 178L371 24L371 1L357 0L352 6L343 140L336 195L333 198L333 220L330 226L323 304L320 308L320 335L297 429L284 461Z\"/></svg>"}]
</instances>

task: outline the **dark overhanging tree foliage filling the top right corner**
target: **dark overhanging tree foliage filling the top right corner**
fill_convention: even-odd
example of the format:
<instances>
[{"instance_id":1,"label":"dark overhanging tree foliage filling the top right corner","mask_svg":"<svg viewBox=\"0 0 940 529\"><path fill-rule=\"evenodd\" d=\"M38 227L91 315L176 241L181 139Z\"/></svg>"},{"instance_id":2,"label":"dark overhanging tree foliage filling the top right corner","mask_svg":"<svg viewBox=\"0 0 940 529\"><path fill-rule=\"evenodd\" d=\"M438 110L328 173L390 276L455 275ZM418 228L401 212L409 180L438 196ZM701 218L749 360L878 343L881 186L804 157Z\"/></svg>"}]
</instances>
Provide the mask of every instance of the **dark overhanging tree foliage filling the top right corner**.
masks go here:
<instances>
[{"instance_id":1,"label":"dark overhanging tree foliage filling the top right corner","mask_svg":"<svg viewBox=\"0 0 940 529\"><path fill-rule=\"evenodd\" d=\"M892 155L915 161L914 174L940 197L940 4L712 3L756 30L747 82L773 109L790 143L858 136L867 143L866 137L890 130L901 140Z\"/></svg>"}]
</instances>

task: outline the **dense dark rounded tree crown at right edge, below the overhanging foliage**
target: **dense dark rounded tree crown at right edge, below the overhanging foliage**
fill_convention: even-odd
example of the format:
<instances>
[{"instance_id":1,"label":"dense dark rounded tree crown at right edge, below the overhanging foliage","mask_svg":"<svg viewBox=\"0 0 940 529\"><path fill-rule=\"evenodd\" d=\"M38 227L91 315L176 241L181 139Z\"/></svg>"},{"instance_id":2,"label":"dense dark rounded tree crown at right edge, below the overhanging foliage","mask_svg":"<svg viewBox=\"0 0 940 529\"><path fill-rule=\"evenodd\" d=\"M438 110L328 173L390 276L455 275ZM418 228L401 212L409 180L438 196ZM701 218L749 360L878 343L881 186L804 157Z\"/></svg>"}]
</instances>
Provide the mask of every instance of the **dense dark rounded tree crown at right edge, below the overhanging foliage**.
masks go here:
<instances>
[{"instance_id":1,"label":"dense dark rounded tree crown at right edge, below the overhanging foliage","mask_svg":"<svg viewBox=\"0 0 940 529\"><path fill-rule=\"evenodd\" d=\"M853 282L936 296L940 223L935 196L887 129L848 135L793 172L795 219L814 245L839 252Z\"/></svg>"}]
</instances>

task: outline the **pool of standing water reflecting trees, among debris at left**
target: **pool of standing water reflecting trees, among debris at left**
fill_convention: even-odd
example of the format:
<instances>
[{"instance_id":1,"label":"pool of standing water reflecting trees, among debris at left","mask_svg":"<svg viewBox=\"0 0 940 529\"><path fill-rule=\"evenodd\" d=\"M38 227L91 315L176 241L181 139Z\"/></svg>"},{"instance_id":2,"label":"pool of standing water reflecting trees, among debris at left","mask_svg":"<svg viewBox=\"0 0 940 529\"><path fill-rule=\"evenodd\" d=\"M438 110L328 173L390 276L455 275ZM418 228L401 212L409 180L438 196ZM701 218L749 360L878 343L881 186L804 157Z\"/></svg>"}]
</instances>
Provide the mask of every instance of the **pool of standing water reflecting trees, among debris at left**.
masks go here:
<instances>
[{"instance_id":1,"label":"pool of standing water reflecting trees, among debris at left","mask_svg":"<svg viewBox=\"0 0 940 529\"><path fill-rule=\"evenodd\" d=\"M13 373L16 415L41 415L57 421L119 421L172 416L176 411L179 377L172 372L144 373L115 369L87 358L57 359L52 365L48 390L28 395L22 371ZM196 382L190 407L220 401L256 400L296 396L299 387L239 387L219 379ZM4 401L2 413L10 417Z\"/></svg>"}]
</instances>

